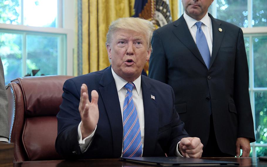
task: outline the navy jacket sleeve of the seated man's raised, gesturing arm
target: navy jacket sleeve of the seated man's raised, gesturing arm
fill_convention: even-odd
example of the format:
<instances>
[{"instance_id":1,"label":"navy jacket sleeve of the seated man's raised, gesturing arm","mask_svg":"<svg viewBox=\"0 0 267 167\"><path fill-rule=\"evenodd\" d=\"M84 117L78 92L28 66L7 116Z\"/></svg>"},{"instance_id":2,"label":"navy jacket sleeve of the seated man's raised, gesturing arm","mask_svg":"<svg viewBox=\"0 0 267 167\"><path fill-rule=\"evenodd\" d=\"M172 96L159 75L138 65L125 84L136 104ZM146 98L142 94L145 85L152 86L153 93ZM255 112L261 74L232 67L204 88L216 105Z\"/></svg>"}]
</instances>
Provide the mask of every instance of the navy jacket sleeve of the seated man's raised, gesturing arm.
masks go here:
<instances>
[{"instance_id":1,"label":"navy jacket sleeve of the seated man's raised, gesturing arm","mask_svg":"<svg viewBox=\"0 0 267 167\"><path fill-rule=\"evenodd\" d=\"M62 103L58 112L58 136L55 141L56 151L64 158L77 158L81 154L78 143L78 125L80 93L72 80L63 85Z\"/></svg>"}]
</instances>

